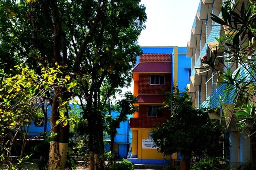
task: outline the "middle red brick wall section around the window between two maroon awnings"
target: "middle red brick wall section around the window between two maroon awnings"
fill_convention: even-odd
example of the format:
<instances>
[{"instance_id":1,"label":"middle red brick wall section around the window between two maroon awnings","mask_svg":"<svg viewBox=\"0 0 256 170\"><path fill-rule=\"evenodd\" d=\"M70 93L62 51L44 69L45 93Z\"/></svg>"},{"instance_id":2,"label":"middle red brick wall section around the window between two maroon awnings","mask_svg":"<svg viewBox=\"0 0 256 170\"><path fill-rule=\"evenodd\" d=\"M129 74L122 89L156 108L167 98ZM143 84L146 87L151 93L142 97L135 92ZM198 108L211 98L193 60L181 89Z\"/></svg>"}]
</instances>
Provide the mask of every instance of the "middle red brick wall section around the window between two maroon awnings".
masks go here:
<instances>
[{"instance_id":1,"label":"middle red brick wall section around the window between two maroon awnings","mask_svg":"<svg viewBox=\"0 0 256 170\"><path fill-rule=\"evenodd\" d=\"M154 75L154 74L152 74ZM171 91L171 75L165 75L164 85L150 85L150 75L139 75L139 95L159 95L160 90Z\"/></svg>"}]
</instances>

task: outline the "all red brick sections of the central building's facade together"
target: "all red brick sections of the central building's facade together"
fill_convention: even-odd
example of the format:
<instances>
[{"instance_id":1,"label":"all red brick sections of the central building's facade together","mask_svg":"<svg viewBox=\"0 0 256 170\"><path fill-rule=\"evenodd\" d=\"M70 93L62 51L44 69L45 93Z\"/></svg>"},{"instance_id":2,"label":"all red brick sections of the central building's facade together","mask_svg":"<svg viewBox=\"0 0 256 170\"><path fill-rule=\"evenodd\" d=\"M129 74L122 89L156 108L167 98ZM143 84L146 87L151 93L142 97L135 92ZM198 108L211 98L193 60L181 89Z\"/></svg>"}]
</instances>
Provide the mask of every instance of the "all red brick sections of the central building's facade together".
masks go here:
<instances>
[{"instance_id":1,"label":"all red brick sections of the central building's facade together","mask_svg":"<svg viewBox=\"0 0 256 170\"><path fill-rule=\"evenodd\" d=\"M140 56L140 62L169 62L171 67L171 54L142 54ZM161 64L158 66L161 67ZM161 94L161 90L165 89L166 91L171 91L171 73L166 71L164 73L154 72L143 72L139 74L139 82L138 82L138 95L155 95L156 98ZM151 85L150 84L150 76L151 75L164 75L165 80L163 85ZM144 96L145 97L145 96ZM155 99L156 99L155 98ZM145 100L144 100L145 101ZM148 106L154 106L155 104L161 105L162 100L154 102L151 104L139 103L139 111L137 118L130 119L130 127L131 128L155 128L155 123L164 123L166 119L170 116L170 111L168 109L163 109L161 117L148 117L147 116L147 108Z\"/></svg>"}]
</instances>

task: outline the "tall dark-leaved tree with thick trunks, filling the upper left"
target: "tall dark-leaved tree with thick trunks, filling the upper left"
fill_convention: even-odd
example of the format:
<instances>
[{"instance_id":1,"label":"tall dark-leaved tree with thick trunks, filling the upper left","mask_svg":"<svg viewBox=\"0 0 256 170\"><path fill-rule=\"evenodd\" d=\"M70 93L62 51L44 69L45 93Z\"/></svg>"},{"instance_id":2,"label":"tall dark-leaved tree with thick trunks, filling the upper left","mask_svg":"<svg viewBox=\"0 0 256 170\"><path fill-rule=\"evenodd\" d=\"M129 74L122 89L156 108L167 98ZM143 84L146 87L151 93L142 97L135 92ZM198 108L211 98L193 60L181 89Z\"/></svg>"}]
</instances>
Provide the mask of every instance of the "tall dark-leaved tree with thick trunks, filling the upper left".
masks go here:
<instances>
[{"instance_id":1,"label":"tall dark-leaved tree with thick trunks, filling the upper left","mask_svg":"<svg viewBox=\"0 0 256 170\"><path fill-rule=\"evenodd\" d=\"M38 74L37 63L60 69L74 80L70 87L54 87L49 169L63 169L67 156L71 95L81 99L89 133L90 168L94 155L103 154L103 115L105 105L101 85L108 84L108 96L131 81L130 69L141 53L137 39L145 28L145 7L140 0L4 0L1 2L1 46L10 46L10 57L26 61ZM4 55L2 55L4 56ZM4 63L4 62L3 62ZM5 62L7 63L7 62ZM7 68L6 68L7 69ZM57 81L57 80L56 80ZM50 94L47 95L50 99ZM105 96L107 98L107 96ZM60 112L60 108L62 109ZM68 119L66 119L68 120ZM56 161L57 160L57 161ZM96 164L96 167L99 163Z\"/></svg>"}]
</instances>

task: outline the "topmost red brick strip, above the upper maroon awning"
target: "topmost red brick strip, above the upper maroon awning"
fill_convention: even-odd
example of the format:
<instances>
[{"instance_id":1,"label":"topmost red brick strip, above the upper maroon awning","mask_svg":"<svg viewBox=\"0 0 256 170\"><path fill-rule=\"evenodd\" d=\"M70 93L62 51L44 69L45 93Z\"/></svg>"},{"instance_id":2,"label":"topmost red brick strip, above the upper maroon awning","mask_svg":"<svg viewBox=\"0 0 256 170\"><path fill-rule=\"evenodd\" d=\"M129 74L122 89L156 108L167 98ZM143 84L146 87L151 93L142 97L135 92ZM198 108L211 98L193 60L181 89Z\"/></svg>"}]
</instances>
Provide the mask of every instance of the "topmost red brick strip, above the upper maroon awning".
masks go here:
<instances>
[{"instance_id":1,"label":"topmost red brick strip, above the upper maroon awning","mask_svg":"<svg viewBox=\"0 0 256 170\"><path fill-rule=\"evenodd\" d=\"M172 54L142 54L140 62L171 62Z\"/></svg>"}]
</instances>

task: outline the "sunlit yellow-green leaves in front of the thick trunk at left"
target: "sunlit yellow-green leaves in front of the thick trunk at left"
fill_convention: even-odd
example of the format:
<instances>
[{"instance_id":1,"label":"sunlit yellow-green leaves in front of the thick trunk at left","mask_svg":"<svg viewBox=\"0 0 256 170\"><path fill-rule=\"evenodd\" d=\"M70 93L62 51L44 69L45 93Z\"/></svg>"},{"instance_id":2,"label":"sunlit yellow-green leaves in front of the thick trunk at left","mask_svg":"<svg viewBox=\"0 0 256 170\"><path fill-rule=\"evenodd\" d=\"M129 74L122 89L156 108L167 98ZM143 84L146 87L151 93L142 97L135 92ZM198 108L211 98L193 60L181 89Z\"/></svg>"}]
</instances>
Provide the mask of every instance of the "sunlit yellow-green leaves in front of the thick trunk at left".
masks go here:
<instances>
[{"instance_id":1,"label":"sunlit yellow-green leaves in front of the thick trunk at left","mask_svg":"<svg viewBox=\"0 0 256 170\"><path fill-rule=\"evenodd\" d=\"M24 127L30 125L32 118L43 117L41 106L51 100L46 92L62 86L71 91L76 86L69 75L62 75L57 63L56 68L41 65L41 74L37 74L25 63L15 66L9 74L0 70L0 82L0 153L9 152L19 135L24 137L27 133ZM63 112L69 103L59 102L58 123L67 125L70 119Z\"/></svg>"}]
</instances>

